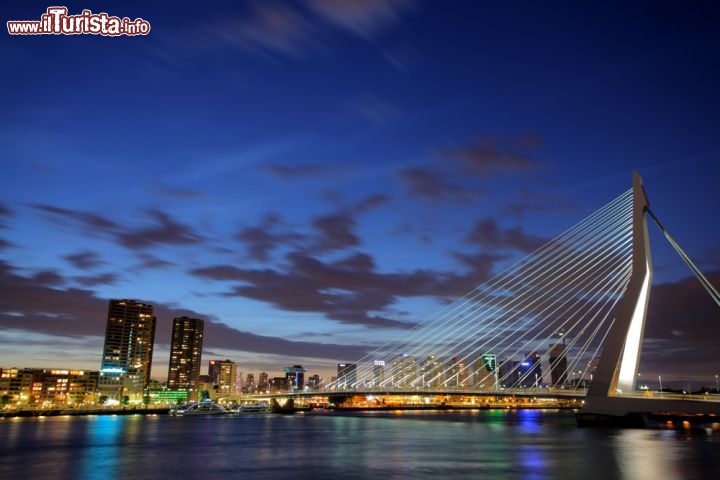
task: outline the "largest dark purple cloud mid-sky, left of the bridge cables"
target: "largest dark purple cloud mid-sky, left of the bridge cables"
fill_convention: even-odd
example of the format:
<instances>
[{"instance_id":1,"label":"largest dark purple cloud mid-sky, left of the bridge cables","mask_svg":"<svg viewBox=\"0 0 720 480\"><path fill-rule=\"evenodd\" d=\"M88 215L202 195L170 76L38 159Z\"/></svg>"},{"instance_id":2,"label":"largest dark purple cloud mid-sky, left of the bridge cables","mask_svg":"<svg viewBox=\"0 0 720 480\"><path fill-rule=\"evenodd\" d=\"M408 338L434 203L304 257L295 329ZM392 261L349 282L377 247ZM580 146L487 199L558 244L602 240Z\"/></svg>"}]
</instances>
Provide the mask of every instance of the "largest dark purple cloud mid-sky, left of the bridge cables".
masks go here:
<instances>
[{"instance_id":1,"label":"largest dark purple cloud mid-sky, left of the bridge cables","mask_svg":"<svg viewBox=\"0 0 720 480\"><path fill-rule=\"evenodd\" d=\"M278 268L248 269L216 265L192 270L192 275L232 282L226 296L259 300L279 309L321 313L330 320L370 328L408 328L407 321L390 318L401 297L456 297L489 278L494 259L471 263L465 274L415 270L381 273L367 253L355 252L334 261L306 252L286 255Z\"/></svg>"}]
</instances>

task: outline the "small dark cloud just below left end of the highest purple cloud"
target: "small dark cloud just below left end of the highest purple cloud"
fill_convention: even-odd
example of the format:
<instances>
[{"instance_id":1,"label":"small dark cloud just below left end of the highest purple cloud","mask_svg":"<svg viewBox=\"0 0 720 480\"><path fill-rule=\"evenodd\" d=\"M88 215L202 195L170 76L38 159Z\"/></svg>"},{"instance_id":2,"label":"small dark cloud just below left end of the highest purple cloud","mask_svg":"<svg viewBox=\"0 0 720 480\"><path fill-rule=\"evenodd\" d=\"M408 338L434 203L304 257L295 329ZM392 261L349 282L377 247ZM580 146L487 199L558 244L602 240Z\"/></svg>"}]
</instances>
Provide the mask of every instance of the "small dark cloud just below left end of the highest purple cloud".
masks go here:
<instances>
[{"instance_id":1,"label":"small dark cloud just below left end of the highest purple cloud","mask_svg":"<svg viewBox=\"0 0 720 480\"><path fill-rule=\"evenodd\" d=\"M400 172L400 179L405 182L412 195L431 200L469 203L487 195L484 189L468 188L451 182L446 173L438 170L408 168Z\"/></svg>"}]
</instances>

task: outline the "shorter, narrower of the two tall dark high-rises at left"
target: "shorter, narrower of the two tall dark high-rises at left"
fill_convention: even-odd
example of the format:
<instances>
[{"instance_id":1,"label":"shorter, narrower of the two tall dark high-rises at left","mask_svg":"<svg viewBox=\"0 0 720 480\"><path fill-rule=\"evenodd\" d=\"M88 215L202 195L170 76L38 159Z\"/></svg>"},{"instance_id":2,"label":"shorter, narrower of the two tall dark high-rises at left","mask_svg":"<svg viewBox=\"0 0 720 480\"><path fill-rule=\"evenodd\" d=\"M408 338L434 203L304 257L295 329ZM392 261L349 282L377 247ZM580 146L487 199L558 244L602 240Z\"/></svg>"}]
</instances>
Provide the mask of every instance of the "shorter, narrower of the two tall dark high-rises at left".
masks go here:
<instances>
[{"instance_id":1,"label":"shorter, narrower of the two tall dark high-rises at left","mask_svg":"<svg viewBox=\"0 0 720 480\"><path fill-rule=\"evenodd\" d=\"M187 390L188 400L197 400L205 321L178 317L173 320L170 340L168 389Z\"/></svg>"}]
</instances>

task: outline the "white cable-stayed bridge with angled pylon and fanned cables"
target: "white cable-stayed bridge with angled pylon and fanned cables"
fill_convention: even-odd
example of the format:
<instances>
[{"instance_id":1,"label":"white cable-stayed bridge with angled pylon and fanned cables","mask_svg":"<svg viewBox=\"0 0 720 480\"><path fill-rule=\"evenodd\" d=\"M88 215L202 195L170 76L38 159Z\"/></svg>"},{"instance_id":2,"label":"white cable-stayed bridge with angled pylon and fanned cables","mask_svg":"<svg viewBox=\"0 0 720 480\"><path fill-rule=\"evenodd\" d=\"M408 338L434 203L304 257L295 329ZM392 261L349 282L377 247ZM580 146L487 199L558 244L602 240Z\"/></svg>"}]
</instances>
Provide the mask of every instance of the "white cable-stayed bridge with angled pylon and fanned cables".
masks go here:
<instances>
[{"instance_id":1,"label":"white cable-stayed bridge with angled pylon and fanned cables","mask_svg":"<svg viewBox=\"0 0 720 480\"><path fill-rule=\"evenodd\" d=\"M585 396L587 418L719 414L718 395L696 401L636 389L652 283L648 216L720 306L718 291L650 210L634 173L628 191L401 340L339 368L330 388L505 394L542 388L545 395Z\"/></svg>"}]
</instances>

